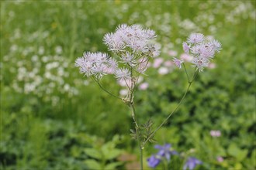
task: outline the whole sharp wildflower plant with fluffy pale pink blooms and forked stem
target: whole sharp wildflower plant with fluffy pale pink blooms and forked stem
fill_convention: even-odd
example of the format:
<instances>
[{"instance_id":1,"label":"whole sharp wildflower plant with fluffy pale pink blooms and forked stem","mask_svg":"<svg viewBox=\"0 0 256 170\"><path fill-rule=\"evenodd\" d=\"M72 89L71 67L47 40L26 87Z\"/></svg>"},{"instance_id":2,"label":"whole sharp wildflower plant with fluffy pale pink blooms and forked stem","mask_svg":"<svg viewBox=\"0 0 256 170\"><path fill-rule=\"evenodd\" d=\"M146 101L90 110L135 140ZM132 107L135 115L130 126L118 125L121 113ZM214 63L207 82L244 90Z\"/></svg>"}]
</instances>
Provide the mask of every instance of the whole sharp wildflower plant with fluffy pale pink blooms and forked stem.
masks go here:
<instances>
[{"instance_id":1,"label":"whole sharp wildflower plant with fluffy pale pink blooms and forked stem","mask_svg":"<svg viewBox=\"0 0 256 170\"><path fill-rule=\"evenodd\" d=\"M192 33L187 42L183 42L183 49L185 53L193 56L192 66L195 67L192 78L185 68L183 59L173 59L176 66L185 69L185 73L189 80L189 87L180 100L175 110L168 115L168 117L153 130L153 122L147 121L145 124L138 124L136 119L136 110L133 103L134 93L138 87L138 80L141 75L146 75L145 72L149 66L151 58L159 56L160 46L157 46L155 39L156 33L151 29L144 29L139 25L127 26L126 24L120 25L116 28L115 32L107 33L103 42L108 46L109 51L112 53L110 56L107 53L90 53L85 52L83 56L75 60L75 66L79 67L80 73L85 76L91 77L102 88L113 97L122 100L123 103L130 107L131 115L135 124L135 128L131 129L132 137L138 142L140 146L140 169L143 169L143 149L147 141L154 141L154 134L161 128L171 117L173 113L182 104L189 87L195 80L197 73L202 72L204 67L208 66L216 52L220 52L220 42L206 41L204 36L200 33ZM125 83L128 93L121 98L105 87L102 87L102 77L110 74L116 78L119 83ZM161 151L164 151L161 149ZM169 153L165 153L169 157ZM157 164L157 161L154 162Z\"/></svg>"}]
</instances>

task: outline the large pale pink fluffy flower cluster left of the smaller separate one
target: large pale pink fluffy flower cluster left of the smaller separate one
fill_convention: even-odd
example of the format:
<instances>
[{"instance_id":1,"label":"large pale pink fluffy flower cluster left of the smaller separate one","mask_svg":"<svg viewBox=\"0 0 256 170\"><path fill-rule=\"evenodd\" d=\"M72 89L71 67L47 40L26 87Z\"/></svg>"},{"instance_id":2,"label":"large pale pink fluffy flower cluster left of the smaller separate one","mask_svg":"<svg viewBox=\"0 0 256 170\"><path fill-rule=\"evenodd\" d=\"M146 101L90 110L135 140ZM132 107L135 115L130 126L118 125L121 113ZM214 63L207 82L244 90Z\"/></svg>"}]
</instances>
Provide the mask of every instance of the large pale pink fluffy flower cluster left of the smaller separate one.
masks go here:
<instances>
[{"instance_id":1,"label":"large pale pink fluffy flower cluster left of the smaller separate one","mask_svg":"<svg viewBox=\"0 0 256 170\"><path fill-rule=\"evenodd\" d=\"M76 59L75 66L85 76L93 76L96 80L106 74L114 74L117 80L130 81L147 70L150 57L159 55L160 46L154 43L156 37L153 30L138 25L120 25L116 32L107 33L103 38L109 50L118 56L116 59L106 53L87 52ZM122 68L119 68L119 63Z\"/></svg>"}]
</instances>

